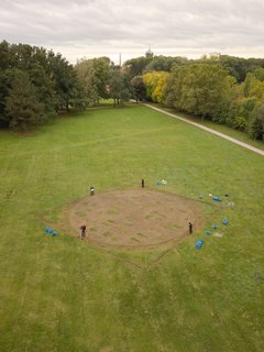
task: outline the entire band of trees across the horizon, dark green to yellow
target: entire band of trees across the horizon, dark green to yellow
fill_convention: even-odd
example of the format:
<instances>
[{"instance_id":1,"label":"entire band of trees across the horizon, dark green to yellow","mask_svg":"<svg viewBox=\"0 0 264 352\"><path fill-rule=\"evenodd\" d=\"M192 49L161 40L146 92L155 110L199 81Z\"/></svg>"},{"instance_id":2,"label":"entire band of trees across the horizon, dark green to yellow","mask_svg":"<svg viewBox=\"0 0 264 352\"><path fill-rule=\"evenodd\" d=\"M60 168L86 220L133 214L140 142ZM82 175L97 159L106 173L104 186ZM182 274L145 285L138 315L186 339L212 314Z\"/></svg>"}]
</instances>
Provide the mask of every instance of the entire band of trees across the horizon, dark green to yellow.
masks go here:
<instances>
[{"instance_id":1,"label":"entire band of trees across the horizon, dark green to yellow","mask_svg":"<svg viewBox=\"0 0 264 352\"><path fill-rule=\"evenodd\" d=\"M264 59L211 55L200 59L145 56L122 67L108 57L70 65L61 54L0 43L0 125L26 130L59 111L101 99L150 100L264 140Z\"/></svg>"}]
</instances>

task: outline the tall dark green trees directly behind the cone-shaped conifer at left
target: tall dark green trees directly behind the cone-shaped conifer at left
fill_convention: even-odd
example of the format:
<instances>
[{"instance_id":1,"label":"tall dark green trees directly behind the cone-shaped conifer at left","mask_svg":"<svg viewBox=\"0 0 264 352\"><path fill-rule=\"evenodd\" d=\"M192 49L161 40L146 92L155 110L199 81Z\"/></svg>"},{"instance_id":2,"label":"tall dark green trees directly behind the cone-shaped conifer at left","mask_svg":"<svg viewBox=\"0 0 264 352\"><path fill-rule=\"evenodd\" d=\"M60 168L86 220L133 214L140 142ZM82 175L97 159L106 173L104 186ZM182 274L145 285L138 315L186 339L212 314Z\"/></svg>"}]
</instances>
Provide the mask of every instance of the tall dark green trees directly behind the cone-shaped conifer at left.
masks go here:
<instances>
[{"instance_id":1,"label":"tall dark green trees directly behind the cone-shaped conifer at left","mask_svg":"<svg viewBox=\"0 0 264 352\"><path fill-rule=\"evenodd\" d=\"M41 101L45 119L62 109L79 107L82 88L74 68L61 54L28 44L0 43L0 121L10 124L6 113L12 77L16 70L26 73L34 86L34 97Z\"/></svg>"}]
</instances>

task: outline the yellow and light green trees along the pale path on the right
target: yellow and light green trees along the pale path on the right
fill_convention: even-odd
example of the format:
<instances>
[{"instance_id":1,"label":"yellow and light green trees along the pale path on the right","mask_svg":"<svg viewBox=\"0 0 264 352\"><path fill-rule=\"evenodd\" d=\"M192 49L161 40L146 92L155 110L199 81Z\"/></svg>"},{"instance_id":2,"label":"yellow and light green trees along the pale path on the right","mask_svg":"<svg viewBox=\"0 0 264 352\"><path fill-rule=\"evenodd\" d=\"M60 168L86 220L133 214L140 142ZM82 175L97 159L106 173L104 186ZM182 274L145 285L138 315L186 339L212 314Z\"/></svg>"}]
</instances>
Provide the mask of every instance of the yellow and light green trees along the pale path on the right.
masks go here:
<instances>
[{"instance_id":1,"label":"yellow and light green trees along the pale path on the right","mask_svg":"<svg viewBox=\"0 0 264 352\"><path fill-rule=\"evenodd\" d=\"M146 99L164 107L264 140L264 59L211 55L184 61L157 56L141 67L140 75L136 69L144 59L129 62L132 72L139 74L138 85L144 87L139 99L145 94Z\"/></svg>"}]
</instances>

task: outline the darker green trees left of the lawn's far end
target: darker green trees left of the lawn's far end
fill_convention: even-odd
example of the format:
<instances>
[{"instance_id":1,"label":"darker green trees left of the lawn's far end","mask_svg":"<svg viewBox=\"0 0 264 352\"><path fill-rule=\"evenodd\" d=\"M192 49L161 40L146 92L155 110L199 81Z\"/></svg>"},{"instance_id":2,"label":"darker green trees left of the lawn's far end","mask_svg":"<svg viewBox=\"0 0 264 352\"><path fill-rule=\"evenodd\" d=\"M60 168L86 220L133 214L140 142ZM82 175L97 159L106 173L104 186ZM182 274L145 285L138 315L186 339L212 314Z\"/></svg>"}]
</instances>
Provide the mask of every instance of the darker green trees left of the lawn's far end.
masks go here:
<instances>
[{"instance_id":1,"label":"darker green trees left of the lawn's far end","mask_svg":"<svg viewBox=\"0 0 264 352\"><path fill-rule=\"evenodd\" d=\"M118 106L131 95L128 75L108 57L74 66L43 47L0 43L0 127L26 131L62 110L84 110L102 98Z\"/></svg>"}]
</instances>

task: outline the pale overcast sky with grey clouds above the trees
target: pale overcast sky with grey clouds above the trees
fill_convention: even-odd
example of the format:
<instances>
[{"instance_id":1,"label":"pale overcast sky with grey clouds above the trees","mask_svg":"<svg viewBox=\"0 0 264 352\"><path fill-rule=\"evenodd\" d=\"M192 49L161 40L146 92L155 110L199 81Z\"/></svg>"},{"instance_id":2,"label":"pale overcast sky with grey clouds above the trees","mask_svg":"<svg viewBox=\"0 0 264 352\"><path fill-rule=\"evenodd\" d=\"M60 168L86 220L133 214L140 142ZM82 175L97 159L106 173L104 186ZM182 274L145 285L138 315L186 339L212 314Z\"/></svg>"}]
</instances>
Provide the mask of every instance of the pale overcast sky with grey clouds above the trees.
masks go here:
<instances>
[{"instance_id":1,"label":"pale overcast sky with grey clouds above the trees","mask_svg":"<svg viewBox=\"0 0 264 352\"><path fill-rule=\"evenodd\" d=\"M0 41L77 58L264 57L263 0L1 0Z\"/></svg>"}]
</instances>

